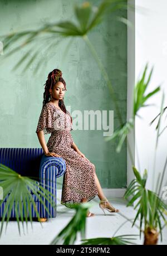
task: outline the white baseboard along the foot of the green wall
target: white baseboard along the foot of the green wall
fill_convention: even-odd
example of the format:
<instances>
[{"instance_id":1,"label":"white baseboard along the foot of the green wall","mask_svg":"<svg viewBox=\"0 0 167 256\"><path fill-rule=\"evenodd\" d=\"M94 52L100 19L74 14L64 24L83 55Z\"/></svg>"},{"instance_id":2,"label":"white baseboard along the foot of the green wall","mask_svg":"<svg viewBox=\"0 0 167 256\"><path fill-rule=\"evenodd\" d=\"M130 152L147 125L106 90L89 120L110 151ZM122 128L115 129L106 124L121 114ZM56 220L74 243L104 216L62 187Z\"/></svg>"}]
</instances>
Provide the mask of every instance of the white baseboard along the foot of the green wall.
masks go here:
<instances>
[{"instance_id":1,"label":"white baseboard along the foot of the green wall","mask_svg":"<svg viewBox=\"0 0 167 256\"><path fill-rule=\"evenodd\" d=\"M110 198L110 197L116 197L116 198L121 197L122 198L125 194L126 189L102 189L102 191L104 192L104 194L107 198ZM58 189L57 197L61 197L61 193L62 193L62 190Z\"/></svg>"}]
</instances>

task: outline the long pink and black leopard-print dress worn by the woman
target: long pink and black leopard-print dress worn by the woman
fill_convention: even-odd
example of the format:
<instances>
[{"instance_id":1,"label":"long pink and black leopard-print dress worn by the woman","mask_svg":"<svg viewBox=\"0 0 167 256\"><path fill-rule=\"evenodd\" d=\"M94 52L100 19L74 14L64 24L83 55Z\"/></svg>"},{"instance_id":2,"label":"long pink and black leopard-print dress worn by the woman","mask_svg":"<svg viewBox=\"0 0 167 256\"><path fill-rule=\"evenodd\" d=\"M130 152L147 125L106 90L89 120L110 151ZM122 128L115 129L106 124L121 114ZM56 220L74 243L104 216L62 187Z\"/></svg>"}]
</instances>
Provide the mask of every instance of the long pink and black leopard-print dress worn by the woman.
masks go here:
<instances>
[{"instance_id":1,"label":"long pink and black leopard-print dress worn by the woman","mask_svg":"<svg viewBox=\"0 0 167 256\"><path fill-rule=\"evenodd\" d=\"M36 132L43 130L51 133L47 142L50 152L59 154L66 162L63 176L61 204L72 207L80 204L81 199L94 199L98 194L95 182L95 166L81 157L73 148L71 136L72 124L70 115L48 102L42 108Z\"/></svg>"}]
</instances>

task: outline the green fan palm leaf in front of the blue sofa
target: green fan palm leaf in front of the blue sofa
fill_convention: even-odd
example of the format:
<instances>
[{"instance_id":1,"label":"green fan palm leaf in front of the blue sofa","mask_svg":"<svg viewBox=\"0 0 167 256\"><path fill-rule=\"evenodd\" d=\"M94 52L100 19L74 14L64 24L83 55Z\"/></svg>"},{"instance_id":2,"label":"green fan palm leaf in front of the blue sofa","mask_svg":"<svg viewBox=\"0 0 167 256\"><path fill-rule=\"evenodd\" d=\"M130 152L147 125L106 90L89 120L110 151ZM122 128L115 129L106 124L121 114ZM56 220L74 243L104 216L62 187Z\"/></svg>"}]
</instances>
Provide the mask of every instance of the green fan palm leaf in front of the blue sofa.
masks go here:
<instances>
[{"instance_id":1,"label":"green fan palm leaf in front of the blue sofa","mask_svg":"<svg viewBox=\"0 0 167 256\"><path fill-rule=\"evenodd\" d=\"M21 223L24 229L23 212L26 224L28 222L27 212L29 213L29 219L32 224L31 204L35 209L37 218L40 218L32 194L34 194L39 199L41 205L45 207L45 210L48 212L49 215L50 210L48 209L48 207L46 207L45 200L50 202L52 207L56 207L54 200L55 195L53 195L50 191L44 189L40 182L37 183L37 181L29 177L21 176L19 173L13 171L11 168L3 165L2 163L0 163L0 185L3 188L3 200L0 201L0 206L3 204L4 199L6 199L6 197L9 195L6 201L6 205L4 206L3 216L1 220L0 236L2 235L6 215L7 228L13 206L16 212L19 234L21 234L19 218L21 218ZM42 197L44 198L44 200L42 200Z\"/></svg>"}]
</instances>

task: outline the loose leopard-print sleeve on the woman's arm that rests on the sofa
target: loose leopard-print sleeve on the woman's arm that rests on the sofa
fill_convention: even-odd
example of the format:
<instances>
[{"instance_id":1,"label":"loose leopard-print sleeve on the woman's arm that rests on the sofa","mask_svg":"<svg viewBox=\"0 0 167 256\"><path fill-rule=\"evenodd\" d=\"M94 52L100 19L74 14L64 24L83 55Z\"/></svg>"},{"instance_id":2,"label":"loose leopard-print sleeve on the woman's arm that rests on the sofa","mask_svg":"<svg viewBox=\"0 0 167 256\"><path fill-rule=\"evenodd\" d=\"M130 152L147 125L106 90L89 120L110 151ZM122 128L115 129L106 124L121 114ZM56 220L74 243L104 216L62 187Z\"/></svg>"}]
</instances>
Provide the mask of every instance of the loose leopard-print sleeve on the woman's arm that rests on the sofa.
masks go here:
<instances>
[{"instance_id":1,"label":"loose leopard-print sleeve on the woman's arm that rests on the sofa","mask_svg":"<svg viewBox=\"0 0 167 256\"><path fill-rule=\"evenodd\" d=\"M43 131L44 134L51 133L54 130L53 120L53 111L50 106L48 104L43 106L38 120L36 133L39 131Z\"/></svg>"}]
</instances>

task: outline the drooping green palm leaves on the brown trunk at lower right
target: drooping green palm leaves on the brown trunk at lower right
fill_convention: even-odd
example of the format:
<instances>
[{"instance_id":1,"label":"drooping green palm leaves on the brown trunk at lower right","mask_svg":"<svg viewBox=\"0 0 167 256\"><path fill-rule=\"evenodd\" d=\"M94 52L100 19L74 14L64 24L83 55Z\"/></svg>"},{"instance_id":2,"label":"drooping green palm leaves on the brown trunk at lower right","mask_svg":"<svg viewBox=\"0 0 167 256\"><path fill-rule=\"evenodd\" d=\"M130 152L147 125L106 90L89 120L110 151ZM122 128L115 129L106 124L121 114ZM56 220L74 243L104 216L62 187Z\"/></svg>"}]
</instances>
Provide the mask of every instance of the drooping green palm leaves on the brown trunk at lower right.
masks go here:
<instances>
[{"instance_id":1,"label":"drooping green palm leaves on the brown trunk at lower right","mask_svg":"<svg viewBox=\"0 0 167 256\"><path fill-rule=\"evenodd\" d=\"M137 204L134 209L137 209L137 214L135 216L132 226L134 226L137 219L140 219L140 238L141 229L144 221L144 230L146 228L159 228L160 234L162 230L161 219L165 221L165 214L167 210L167 205L159 198L155 192L146 189L146 180L148 178L148 173L145 169L143 177L133 166L133 171L135 179L131 181L129 187L125 192L125 199L132 197L128 202L127 206L132 206L137 200ZM161 236L162 238L162 236Z\"/></svg>"}]
</instances>

